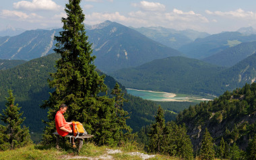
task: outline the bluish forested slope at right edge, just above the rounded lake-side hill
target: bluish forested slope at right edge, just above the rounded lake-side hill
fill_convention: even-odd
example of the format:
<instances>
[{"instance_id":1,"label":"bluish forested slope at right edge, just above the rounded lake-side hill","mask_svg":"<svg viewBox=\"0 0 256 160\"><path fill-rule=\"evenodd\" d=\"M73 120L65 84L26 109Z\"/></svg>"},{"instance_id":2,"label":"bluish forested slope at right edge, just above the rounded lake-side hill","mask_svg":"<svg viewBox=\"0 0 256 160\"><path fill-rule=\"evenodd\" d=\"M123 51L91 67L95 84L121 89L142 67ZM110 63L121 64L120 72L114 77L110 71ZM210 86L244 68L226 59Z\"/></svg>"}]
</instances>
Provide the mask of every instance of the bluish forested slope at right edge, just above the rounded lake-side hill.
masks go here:
<instances>
[{"instance_id":1,"label":"bluish forested slope at right edge, just above the rounded lake-side hill","mask_svg":"<svg viewBox=\"0 0 256 160\"><path fill-rule=\"evenodd\" d=\"M237 46L226 48L225 50L222 50L212 56L208 56L207 58L203 58L203 61L220 65L222 67L232 67L239 61L255 54L255 52L256 42L244 42Z\"/></svg>"}]
</instances>

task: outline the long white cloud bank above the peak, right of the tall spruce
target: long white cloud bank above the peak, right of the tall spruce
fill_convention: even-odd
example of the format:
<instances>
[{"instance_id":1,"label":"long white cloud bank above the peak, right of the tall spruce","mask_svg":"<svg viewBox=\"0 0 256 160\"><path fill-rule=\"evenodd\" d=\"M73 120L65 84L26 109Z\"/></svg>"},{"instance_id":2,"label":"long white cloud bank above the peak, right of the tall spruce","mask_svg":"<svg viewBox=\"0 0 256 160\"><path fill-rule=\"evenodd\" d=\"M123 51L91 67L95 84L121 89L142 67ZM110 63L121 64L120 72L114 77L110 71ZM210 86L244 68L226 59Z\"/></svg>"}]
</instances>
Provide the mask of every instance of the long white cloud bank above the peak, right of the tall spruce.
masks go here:
<instances>
[{"instance_id":1,"label":"long white cloud bank above the peak, right of the tall spruce","mask_svg":"<svg viewBox=\"0 0 256 160\"><path fill-rule=\"evenodd\" d=\"M163 26L166 28L174 28L177 30L185 30L188 27L194 30L203 30L205 24L210 21L195 11L181 11L173 9L170 12L159 11L133 11L127 15L119 12L115 13L92 13L86 14L86 24L99 24L106 20L118 22L125 26L133 27L150 27Z\"/></svg>"}]
</instances>

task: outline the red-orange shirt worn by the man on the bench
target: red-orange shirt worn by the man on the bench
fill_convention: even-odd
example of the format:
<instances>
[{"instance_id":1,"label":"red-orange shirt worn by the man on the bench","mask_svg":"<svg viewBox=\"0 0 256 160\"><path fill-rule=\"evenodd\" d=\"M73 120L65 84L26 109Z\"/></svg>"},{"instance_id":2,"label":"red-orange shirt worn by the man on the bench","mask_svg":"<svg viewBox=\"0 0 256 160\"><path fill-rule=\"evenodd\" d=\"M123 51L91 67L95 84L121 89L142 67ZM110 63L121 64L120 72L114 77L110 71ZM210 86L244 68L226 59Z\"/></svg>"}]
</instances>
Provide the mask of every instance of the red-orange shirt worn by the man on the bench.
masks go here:
<instances>
[{"instance_id":1,"label":"red-orange shirt worn by the man on the bench","mask_svg":"<svg viewBox=\"0 0 256 160\"><path fill-rule=\"evenodd\" d=\"M63 114L61 114L61 112L59 111L55 115L55 124L56 124L56 129L59 135L66 136L67 134L69 134L69 132L65 132L60 129L61 126L64 126L64 128L71 130L71 127L69 126L69 124L67 124Z\"/></svg>"}]
</instances>

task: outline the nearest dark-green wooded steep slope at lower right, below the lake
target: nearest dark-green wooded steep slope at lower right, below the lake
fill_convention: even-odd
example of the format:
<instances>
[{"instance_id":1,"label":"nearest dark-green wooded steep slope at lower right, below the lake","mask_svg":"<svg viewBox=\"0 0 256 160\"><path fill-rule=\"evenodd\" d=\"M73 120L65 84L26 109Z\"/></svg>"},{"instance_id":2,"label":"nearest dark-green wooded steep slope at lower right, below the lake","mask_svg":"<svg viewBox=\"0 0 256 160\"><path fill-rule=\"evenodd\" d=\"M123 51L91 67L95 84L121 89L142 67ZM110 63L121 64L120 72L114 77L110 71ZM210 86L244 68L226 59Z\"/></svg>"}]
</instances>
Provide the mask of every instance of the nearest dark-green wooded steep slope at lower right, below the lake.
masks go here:
<instances>
[{"instance_id":1,"label":"nearest dark-green wooded steep slope at lower right, below the lake","mask_svg":"<svg viewBox=\"0 0 256 160\"><path fill-rule=\"evenodd\" d=\"M185 123L193 146L199 146L203 131L207 128L219 145L221 138L228 144L245 150L249 138L256 132L256 83L246 84L232 92L226 91L210 102L201 102L184 110L177 117Z\"/></svg>"}]
</instances>

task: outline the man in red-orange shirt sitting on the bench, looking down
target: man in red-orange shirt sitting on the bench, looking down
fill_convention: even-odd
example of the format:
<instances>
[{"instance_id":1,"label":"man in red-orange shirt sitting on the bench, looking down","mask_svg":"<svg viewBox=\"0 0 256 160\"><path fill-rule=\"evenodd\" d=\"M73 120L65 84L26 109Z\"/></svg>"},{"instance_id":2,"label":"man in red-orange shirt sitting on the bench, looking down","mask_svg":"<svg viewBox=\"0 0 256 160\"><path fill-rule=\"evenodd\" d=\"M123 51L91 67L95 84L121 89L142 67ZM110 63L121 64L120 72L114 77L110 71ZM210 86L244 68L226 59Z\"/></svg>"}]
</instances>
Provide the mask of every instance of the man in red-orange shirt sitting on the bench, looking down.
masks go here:
<instances>
[{"instance_id":1,"label":"man in red-orange shirt sitting on the bench, looking down","mask_svg":"<svg viewBox=\"0 0 256 160\"><path fill-rule=\"evenodd\" d=\"M72 135L72 129L69 125L72 124L72 122L66 122L63 114L67 111L67 105L61 104L59 106L59 111L55 115L55 124L57 132L60 136L67 136L67 134ZM74 138L72 138L72 145L73 148L75 148L75 141Z\"/></svg>"}]
</instances>

